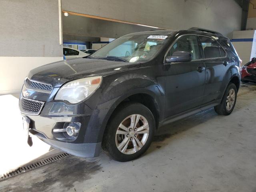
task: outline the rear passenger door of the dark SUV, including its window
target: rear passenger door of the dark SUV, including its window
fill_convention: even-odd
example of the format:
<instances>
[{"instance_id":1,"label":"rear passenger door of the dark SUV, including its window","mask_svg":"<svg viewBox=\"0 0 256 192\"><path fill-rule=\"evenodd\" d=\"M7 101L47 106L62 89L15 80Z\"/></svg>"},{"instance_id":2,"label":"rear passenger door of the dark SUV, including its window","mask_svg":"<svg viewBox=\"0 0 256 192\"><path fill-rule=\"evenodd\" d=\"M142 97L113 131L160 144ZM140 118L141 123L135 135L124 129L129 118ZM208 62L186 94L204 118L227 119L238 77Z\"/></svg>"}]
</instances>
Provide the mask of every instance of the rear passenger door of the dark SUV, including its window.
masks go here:
<instances>
[{"instance_id":1,"label":"rear passenger door of the dark SUV, including its window","mask_svg":"<svg viewBox=\"0 0 256 192\"><path fill-rule=\"evenodd\" d=\"M221 98L222 81L232 61L214 38L199 36L199 42L203 55L202 62L206 66L206 84L203 100L203 103L206 104Z\"/></svg>"}]
</instances>

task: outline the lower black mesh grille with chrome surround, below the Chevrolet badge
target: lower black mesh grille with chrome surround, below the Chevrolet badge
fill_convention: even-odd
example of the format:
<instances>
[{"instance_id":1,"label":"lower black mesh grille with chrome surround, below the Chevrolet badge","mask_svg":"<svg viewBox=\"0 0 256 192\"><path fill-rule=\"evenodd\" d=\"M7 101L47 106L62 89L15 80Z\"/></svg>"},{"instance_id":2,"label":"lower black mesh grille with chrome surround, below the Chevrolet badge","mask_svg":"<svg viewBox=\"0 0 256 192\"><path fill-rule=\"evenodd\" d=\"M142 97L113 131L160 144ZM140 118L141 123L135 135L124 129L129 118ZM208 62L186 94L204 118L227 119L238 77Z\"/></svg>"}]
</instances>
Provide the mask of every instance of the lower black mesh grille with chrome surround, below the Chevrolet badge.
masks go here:
<instances>
[{"instance_id":1,"label":"lower black mesh grille with chrome surround, below the Chevrolet badge","mask_svg":"<svg viewBox=\"0 0 256 192\"><path fill-rule=\"evenodd\" d=\"M21 106L24 112L39 114L44 102L21 98Z\"/></svg>"}]
</instances>

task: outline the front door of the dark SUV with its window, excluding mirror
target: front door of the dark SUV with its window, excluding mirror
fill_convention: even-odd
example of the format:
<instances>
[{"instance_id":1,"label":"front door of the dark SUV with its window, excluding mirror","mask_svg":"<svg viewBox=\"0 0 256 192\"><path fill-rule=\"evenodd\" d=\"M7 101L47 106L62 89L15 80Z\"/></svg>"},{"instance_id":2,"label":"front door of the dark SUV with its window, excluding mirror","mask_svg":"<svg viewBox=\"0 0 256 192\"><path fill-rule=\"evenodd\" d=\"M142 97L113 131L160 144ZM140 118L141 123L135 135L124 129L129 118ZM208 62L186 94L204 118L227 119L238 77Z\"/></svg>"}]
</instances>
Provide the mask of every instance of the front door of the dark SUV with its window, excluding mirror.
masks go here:
<instances>
[{"instance_id":1,"label":"front door of the dark SUV with its window, excluding mirror","mask_svg":"<svg viewBox=\"0 0 256 192\"><path fill-rule=\"evenodd\" d=\"M197 36L180 37L170 48L167 56L172 56L175 51L190 52L192 61L165 65L165 118L200 106L204 96L205 65L201 60Z\"/></svg>"}]
</instances>

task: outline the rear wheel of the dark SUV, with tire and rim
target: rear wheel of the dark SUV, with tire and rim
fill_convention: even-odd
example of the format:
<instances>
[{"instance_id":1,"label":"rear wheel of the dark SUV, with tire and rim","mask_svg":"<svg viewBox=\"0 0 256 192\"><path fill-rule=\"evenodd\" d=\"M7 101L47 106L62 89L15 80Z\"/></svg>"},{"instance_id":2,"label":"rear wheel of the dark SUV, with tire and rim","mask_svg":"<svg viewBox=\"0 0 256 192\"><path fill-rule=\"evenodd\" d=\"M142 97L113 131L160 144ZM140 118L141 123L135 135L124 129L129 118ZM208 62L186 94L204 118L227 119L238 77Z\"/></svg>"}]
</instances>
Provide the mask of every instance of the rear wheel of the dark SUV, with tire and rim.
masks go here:
<instances>
[{"instance_id":1,"label":"rear wheel of the dark SUV, with tire and rim","mask_svg":"<svg viewBox=\"0 0 256 192\"><path fill-rule=\"evenodd\" d=\"M232 93L234 93L234 96ZM232 98L228 98L228 96L229 97L232 96ZM236 97L237 97L237 88L235 84L233 83L228 84L228 87L226 88L226 91L222 97L220 104L214 107L214 110L216 111L216 113L218 113L219 115L230 115L236 105ZM229 106L227 104L228 102L230 103ZM231 107L231 104L232 104L232 107Z\"/></svg>"}]
</instances>

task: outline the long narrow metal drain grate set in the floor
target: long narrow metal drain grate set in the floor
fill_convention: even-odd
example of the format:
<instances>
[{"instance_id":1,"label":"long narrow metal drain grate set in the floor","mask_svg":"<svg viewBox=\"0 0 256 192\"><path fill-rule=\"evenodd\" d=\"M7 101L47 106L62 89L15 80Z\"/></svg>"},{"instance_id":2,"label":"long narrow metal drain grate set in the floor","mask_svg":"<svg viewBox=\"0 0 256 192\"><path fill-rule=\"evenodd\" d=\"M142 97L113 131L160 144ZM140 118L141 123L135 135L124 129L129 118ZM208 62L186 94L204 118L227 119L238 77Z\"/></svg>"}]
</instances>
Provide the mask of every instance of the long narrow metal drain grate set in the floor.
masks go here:
<instances>
[{"instance_id":1,"label":"long narrow metal drain grate set in the floor","mask_svg":"<svg viewBox=\"0 0 256 192\"><path fill-rule=\"evenodd\" d=\"M0 175L0 180L4 180L4 179L10 178L12 176L16 176L18 174L28 172L32 169L35 169L35 168L47 165L49 163L61 160L61 159L66 158L68 156L71 156L71 155L68 154L68 153L61 153L61 154L58 154L58 155L55 155L55 156L51 156L51 157L42 159L42 160L40 160L38 162L35 162L35 163L32 163L30 165L22 166L22 167L20 167L16 170L13 170L11 172L7 172L6 174Z\"/></svg>"}]
</instances>

